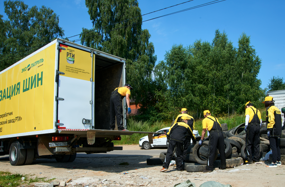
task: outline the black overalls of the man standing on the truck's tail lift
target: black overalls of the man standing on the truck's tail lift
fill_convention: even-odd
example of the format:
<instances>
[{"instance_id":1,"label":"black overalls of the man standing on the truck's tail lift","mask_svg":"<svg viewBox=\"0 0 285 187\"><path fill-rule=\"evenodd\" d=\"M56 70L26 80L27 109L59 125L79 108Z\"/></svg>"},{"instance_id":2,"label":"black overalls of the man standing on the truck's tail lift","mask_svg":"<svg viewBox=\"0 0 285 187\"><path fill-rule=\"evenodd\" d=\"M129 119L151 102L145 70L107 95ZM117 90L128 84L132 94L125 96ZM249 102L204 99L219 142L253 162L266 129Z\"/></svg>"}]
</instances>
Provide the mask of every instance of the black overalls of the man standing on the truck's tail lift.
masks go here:
<instances>
[{"instance_id":1,"label":"black overalls of the man standing on the truck's tail lift","mask_svg":"<svg viewBox=\"0 0 285 187\"><path fill-rule=\"evenodd\" d=\"M111 93L110 98L110 129L115 129L115 119L117 119L118 130L124 130L123 126L123 104L125 96L118 92L118 88ZM115 118L116 117L116 118Z\"/></svg>"}]
</instances>

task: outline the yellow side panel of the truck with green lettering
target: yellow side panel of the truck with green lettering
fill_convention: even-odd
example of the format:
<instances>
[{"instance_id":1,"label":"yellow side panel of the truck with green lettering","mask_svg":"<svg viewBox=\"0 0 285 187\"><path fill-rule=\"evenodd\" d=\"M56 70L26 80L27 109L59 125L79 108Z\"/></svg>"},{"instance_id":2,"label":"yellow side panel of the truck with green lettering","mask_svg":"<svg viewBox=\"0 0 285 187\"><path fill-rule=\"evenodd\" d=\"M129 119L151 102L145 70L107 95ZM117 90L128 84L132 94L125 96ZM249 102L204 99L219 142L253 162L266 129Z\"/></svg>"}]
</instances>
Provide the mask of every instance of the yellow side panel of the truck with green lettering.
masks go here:
<instances>
[{"instance_id":1,"label":"yellow side panel of the truck with green lettering","mask_svg":"<svg viewBox=\"0 0 285 187\"><path fill-rule=\"evenodd\" d=\"M0 136L54 128L53 44L0 74Z\"/></svg>"}]
</instances>

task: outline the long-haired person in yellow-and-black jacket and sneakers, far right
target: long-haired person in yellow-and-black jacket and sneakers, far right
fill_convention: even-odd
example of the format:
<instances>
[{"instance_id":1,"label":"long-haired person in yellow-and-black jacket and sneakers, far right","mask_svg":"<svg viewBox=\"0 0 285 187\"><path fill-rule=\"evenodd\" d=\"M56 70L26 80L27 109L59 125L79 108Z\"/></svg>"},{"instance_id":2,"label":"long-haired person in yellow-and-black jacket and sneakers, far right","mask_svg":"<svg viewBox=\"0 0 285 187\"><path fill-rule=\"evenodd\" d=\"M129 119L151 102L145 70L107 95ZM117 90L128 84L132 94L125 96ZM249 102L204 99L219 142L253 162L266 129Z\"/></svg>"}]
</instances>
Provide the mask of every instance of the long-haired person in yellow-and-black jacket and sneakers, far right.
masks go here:
<instances>
[{"instance_id":1,"label":"long-haired person in yellow-and-black jacket and sneakers, far right","mask_svg":"<svg viewBox=\"0 0 285 187\"><path fill-rule=\"evenodd\" d=\"M265 107L269 107L266 112L267 136L272 150L272 163L266 167L281 166L281 152L278 144L278 137L282 132L282 119L280 110L274 106L273 97L267 96L264 101Z\"/></svg>"}]
</instances>

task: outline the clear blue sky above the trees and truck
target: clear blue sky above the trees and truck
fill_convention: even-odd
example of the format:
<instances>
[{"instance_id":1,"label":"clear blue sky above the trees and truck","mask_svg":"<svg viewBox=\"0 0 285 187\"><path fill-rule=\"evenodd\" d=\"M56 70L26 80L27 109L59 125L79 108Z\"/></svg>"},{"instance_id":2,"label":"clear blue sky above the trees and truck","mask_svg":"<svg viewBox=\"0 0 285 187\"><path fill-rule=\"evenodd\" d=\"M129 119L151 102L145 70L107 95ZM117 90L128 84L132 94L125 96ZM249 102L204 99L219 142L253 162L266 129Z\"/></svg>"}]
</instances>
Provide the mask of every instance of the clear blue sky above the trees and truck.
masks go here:
<instances>
[{"instance_id":1,"label":"clear blue sky above the trees and truck","mask_svg":"<svg viewBox=\"0 0 285 187\"><path fill-rule=\"evenodd\" d=\"M143 15L186 1L139 0L139 7ZM214 0L193 0L145 15L143 21L211 1ZM50 7L59 15L59 25L65 30L65 37L80 34L83 27L92 28L84 0L24 0L24 3L29 5L29 8L34 5ZM284 12L283 0L226 0L143 22L143 29L148 29L151 34L150 41L154 43L157 62L164 60L165 52L174 44L186 47L199 39L212 43L216 29L225 31L235 47L238 47L238 38L245 32L250 36L256 55L262 60L258 78L262 81L261 88L264 89L273 76L285 78ZM7 19L3 3L0 4L0 14ZM79 36L76 36L70 40L78 38Z\"/></svg>"}]
</instances>

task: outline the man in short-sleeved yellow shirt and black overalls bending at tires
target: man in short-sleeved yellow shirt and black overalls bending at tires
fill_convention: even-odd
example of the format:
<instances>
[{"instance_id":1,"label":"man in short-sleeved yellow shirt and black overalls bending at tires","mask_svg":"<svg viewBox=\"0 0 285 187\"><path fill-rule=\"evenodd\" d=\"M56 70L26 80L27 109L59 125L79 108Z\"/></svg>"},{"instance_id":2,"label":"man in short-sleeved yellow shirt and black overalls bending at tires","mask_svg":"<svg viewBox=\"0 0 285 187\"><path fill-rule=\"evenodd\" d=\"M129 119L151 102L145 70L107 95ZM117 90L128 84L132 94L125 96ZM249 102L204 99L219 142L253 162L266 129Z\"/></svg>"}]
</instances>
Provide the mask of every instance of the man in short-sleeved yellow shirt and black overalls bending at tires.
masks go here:
<instances>
[{"instance_id":1,"label":"man in short-sleeved yellow shirt and black overalls bending at tires","mask_svg":"<svg viewBox=\"0 0 285 187\"><path fill-rule=\"evenodd\" d=\"M204 140L206 129L210 132L209 137L209 155L208 155L208 163L206 169L203 171L204 173L212 172L216 148L218 147L221 157L221 167L220 169L226 169L226 153L225 153L225 142L224 135L222 133L222 127L219 120L215 117L211 116L209 110L205 110L203 112L205 119L202 121L203 131L201 140L199 141L199 145L202 145Z\"/></svg>"}]
</instances>

